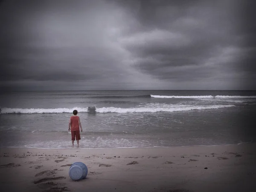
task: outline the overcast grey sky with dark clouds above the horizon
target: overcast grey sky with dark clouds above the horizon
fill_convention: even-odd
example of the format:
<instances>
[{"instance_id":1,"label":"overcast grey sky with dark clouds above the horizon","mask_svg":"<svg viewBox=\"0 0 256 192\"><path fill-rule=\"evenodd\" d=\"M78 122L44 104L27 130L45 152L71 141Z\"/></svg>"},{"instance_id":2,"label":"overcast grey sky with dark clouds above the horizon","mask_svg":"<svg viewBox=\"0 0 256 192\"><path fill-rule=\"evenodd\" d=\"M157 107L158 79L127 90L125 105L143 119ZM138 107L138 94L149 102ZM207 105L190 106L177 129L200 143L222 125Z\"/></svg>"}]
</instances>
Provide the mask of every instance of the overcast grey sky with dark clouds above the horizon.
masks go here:
<instances>
[{"instance_id":1,"label":"overcast grey sky with dark clouds above the horizon","mask_svg":"<svg viewBox=\"0 0 256 192\"><path fill-rule=\"evenodd\" d=\"M256 90L253 0L3 0L0 90Z\"/></svg>"}]
</instances>

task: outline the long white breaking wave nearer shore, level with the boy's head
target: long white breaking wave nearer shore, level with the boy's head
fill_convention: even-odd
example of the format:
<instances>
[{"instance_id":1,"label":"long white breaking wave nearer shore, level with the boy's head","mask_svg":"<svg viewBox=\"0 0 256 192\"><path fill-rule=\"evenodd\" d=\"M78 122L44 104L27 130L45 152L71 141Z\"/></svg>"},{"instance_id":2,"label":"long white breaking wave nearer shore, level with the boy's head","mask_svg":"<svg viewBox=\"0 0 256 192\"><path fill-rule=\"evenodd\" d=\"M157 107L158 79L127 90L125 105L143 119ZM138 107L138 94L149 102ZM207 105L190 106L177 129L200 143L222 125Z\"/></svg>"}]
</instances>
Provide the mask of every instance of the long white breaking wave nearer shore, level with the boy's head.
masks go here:
<instances>
[{"instance_id":1,"label":"long white breaking wave nearer shore, level with the boy's head","mask_svg":"<svg viewBox=\"0 0 256 192\"><path fill-rule=\"evenodd\" d=\"M170 105L169 107L139 107L139 108L96 108L97 113L156 113L156 112L174 112L174 111L190 111L190 110L204 110L204 109L218 109L235 107L235 105ZM55 108L55 109L22 109L22 108L3 108L2 113L72 113L73 110L79 112L88 112L87 108Z\"/></svg>"}]
</instances>

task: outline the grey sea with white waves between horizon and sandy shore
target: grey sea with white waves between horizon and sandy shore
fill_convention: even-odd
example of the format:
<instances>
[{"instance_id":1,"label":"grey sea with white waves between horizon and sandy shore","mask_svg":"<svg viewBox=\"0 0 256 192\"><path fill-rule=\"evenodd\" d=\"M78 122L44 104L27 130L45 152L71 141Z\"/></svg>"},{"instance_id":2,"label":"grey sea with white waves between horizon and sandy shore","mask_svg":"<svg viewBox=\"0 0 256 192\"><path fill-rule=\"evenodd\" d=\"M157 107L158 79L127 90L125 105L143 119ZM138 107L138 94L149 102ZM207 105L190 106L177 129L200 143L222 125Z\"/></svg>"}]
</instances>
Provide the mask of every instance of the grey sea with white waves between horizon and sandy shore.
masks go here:
<instances>
[{"instance_id":1,"label":"grey sea with white waves between horizon and sandy shore","mask_svg":"<svg viewBox=\"0 0 256 192\"><path fill-rule=\"evenodd\" d=\"M92 106L96 113L87 111ZM71 148L68 122L75 109L80 148L256 142L256 91L6 92L0 108L0 147Z\"/></svg>"}]
</instances>

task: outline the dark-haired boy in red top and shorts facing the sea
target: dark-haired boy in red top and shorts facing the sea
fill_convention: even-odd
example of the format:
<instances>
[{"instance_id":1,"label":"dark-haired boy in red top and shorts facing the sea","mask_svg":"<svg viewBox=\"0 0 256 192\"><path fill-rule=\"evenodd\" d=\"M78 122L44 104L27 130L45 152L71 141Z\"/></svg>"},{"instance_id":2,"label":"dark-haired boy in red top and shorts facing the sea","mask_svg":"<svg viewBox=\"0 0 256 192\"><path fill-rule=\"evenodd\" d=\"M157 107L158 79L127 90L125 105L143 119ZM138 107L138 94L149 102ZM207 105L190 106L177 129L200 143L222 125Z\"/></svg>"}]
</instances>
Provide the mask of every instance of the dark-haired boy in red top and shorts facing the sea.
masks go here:
<instances>
[{"instance_id":1,"label":"dark-haired boy in red top and shorts facing the sea","mask_svg":"<svg viewBox=\"0 0 256 192\"><path fill-rule=\"evenodd\" d=\"M68 123L68 131L70 131L70 126L71 126L72 146L74 146L74 141L75 141L75 137L76 137L76 143L77 143L77 146L79 147L79 140L81 140L79 126L81 128L81 132L83 132L83 129L82 129L82 125L81 125L79 116L76 116L77 113L78 112L76 110L73 111L74 115L70 117L70 120Z\"/></svg>"}]
</instances>

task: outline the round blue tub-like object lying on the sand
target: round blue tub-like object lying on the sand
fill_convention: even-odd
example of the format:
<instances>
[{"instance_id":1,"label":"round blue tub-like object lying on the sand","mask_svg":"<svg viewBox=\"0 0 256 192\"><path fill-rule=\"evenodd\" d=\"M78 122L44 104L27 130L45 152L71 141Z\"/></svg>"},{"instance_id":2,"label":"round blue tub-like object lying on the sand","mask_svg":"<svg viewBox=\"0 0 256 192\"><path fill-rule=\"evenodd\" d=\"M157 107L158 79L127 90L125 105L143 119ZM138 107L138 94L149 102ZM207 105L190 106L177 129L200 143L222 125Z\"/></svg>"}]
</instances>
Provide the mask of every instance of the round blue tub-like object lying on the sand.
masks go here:
<instances>
[{"instance_id":1,"label":"round blue tub-like object lying on the sand","mask_svg":"<svg viewBox=\"0 0 256 192\"><path fill-rule=\"evenodd\" d=\"M88 173L87 166L82 162L73 163L70 166L70 169L68 172L70 178L73 180L85 179L85 177L87 176L87 173Z\"/></svg>"}]
</instances>

